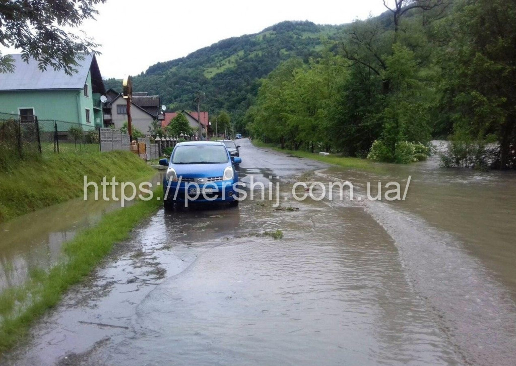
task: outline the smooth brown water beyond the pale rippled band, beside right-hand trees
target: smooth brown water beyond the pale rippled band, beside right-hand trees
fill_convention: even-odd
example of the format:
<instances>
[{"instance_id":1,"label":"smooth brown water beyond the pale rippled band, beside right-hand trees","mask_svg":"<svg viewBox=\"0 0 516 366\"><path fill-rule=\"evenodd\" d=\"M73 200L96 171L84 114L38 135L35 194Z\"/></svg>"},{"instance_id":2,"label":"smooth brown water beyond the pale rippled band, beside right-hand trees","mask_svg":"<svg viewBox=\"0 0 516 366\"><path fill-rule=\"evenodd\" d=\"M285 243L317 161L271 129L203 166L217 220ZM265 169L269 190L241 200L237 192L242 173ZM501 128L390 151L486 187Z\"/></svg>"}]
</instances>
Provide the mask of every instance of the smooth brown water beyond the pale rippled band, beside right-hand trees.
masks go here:
<instances>
[{"instance_id":1,"label":"smooth brown water beyond the pale rippled band, beside right-hand trees","mask_svg":"<svg viewBox=\"0 0 516 366\"><path fill-rule=\"evenodd\" d=\"M382 202L393 210L423 219L454 237L501 281L516 301L516 173L472 169L444 169L439 158L410 165L389 164L382 173L330 168L325 179L349 180L365 195L366 182L399 182L411 177L405 201ZM416 222L414 221L414 224Z\"/></svg>"}]
</instances>

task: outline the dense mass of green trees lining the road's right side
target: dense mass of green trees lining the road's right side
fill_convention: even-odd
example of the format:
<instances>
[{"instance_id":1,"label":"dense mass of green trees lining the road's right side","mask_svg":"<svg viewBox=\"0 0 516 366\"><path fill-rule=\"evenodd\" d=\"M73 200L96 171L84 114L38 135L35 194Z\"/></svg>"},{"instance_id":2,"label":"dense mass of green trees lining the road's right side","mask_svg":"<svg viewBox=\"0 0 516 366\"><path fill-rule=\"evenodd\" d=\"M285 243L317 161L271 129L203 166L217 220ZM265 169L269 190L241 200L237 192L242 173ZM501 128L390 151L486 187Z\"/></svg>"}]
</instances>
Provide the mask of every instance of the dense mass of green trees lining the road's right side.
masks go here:
<instances>
[{"instance_id":1,"label":"dense mass of green trees lining the road's right side","mask_svg":"<svg viewBox=\"0 0 516 366\"><path fill-rule=\"evenodd\" d=\"M474 151L466 160L478 166L515 168L513 4L396 0L388 8L264 78L244 118L253 135L389 162L421 160L432 137L444 137L473 141L475 149L454 150Z\"/></svg>"}]
</instances>

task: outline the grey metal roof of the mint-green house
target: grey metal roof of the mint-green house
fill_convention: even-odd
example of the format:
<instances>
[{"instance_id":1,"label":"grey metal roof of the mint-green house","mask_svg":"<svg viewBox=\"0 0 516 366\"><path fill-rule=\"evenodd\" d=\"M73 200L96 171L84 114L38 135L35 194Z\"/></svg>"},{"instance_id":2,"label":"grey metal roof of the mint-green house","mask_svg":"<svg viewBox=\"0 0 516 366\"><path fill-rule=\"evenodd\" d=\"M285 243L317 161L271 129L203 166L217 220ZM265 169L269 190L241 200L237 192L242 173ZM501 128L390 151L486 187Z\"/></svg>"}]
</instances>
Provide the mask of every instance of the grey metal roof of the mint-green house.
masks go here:
<instances>
[{"instance_id":1,"label":"grey metal roof of the mint-green house","mask_svg":"<svg viewBox=\"0 0 516 366\"><path fill-rule=\"evenodd\" d=\"M104 83L94 55L84 55L84 60L77 60L74 68L77 73L67 75L63 70L47 67L41 71L38 61L29 59L25 62L22 55L10 55L14 62L14 72L0 73L0 90L46 90L46 89L82 89L91 68L92 84L105 93Z\"/></svg>"}]
</instances>

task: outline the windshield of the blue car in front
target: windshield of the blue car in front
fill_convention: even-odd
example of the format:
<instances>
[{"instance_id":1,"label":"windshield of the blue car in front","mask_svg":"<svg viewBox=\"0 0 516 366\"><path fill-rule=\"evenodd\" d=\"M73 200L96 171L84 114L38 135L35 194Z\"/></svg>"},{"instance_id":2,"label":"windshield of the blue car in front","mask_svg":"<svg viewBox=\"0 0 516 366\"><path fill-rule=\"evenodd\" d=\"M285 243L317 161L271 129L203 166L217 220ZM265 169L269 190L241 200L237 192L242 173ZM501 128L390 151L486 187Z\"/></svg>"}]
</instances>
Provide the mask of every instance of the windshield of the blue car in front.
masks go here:
<instances>
[{"instance_id":1,"label":"windshield of the blue car in front","mask_svg":"<svg viewBox=\"0 0 516 366\"><path fill-rule=\"evenodd\" d=\"M228 153L220 145L178 146L172 155L172 164L220 164L228 162Z\"/></svg>"}]
</instances>

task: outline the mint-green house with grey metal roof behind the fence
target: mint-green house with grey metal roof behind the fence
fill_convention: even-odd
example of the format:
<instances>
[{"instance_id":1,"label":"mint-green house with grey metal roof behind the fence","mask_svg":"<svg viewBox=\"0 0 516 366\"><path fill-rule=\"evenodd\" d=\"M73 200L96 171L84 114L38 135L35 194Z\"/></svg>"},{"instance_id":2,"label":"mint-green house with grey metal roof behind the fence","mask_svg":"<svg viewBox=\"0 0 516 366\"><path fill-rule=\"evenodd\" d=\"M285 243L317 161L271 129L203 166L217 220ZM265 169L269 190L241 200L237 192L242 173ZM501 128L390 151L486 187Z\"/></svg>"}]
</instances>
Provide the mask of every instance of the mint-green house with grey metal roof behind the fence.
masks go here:
<instances>
[{"instance_id":1,"label":"mint-green house with grey metal roof behind the fence","mask_svg":"<svg viewBox=\"0 0 516 366\"><path fill-rule=\"evenodd\" d=\"M14 72L0 73L0 112L20 115L22 120L37 116L39 121L80 123L84 131L103 126L100 97L106 89L95 55L77 60L77 73L72 75L50 67L41 71L37 60L27 63L22 55L11 57Z\"/></svg>"}]
</instances>

